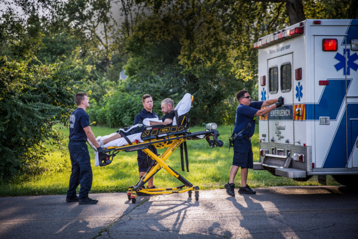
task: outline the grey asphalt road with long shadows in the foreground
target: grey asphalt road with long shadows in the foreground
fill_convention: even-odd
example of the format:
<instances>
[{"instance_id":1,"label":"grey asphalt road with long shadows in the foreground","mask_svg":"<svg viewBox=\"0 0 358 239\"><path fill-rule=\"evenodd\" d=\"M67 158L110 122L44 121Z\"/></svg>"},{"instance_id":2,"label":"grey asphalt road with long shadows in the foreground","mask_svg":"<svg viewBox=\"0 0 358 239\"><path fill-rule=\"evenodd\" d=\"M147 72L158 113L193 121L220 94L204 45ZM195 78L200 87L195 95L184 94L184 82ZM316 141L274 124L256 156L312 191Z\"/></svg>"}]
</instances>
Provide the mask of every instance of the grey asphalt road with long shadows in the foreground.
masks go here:
<instances>
[{"instance_id":1,"label":"grey asphalt road with long shadows in the foreground","mask_svg":"<svg viewBox=\"0 0 358 239\"><path fill-rule=\"evenodd\" d=\"M236 189L237 190L237 189ZM0 238L357 238L358 192L339 186L258 188L159 195L127 201L126 193L0 198Z\"/></svg>"}]
</instances>

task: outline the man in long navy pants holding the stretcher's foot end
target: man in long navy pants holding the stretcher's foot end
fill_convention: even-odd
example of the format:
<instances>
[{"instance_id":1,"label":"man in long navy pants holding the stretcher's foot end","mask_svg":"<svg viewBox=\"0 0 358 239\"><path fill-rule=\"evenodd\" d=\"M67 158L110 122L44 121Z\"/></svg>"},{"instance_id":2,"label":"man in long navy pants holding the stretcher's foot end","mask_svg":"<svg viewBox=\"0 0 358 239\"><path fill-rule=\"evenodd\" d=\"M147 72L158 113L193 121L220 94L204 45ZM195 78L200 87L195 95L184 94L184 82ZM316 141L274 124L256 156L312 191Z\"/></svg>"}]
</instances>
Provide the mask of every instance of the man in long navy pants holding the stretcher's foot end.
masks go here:
<instances>
[{"instance_id":1,"label":"man in long navy pants holding the stretcher's foot end","mask_svg":"<svg viewBox=\"0 0 358 239\"><path fill-rule=\"evenodd\" d=\"M69 190L67 191L67 202L78 202L79 204L96 204L98 200L88 198L88 192L92 187L92 167L89 161L86 138L103 153L89 124L89 116L86 108L89 107L89 100L86 93L78 93L75 96L78 108L72 112L70 117L70 158L72 172L70 177ZM81 184L79 197L76 196L76 188Z\"/></svg>"}]
</instances>

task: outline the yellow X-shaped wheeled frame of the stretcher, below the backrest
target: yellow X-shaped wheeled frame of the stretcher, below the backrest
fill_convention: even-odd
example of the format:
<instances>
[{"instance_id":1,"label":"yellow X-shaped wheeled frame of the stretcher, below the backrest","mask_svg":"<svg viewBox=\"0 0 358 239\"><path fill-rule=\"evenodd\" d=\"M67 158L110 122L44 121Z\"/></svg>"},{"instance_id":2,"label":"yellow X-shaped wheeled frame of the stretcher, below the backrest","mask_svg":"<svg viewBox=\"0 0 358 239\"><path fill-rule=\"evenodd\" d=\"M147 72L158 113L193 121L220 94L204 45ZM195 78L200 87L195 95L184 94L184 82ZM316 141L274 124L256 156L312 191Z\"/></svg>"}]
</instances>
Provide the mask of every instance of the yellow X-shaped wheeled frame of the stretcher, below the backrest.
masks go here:
<instances>
[{"instance_id":1,"label":"yellow X-shaped wheeled frame of the stretcher, below the backrest","mask_svg":"<svg viewBox=\"0 0 358 239\"><path fill-rule=\"evenodd\" d=\"M155 125L153 125L155 126ZM188 130L189 131L189 130ZM171 194L171 193L183 193L188 192L189 197L192 195L192 191L195 191L195 200L199 200L199 187L193 186L189 181L187 181L183 176L173 170L165 161L171 156L171 154L186 140L191 139L199 139L196 136L205 135L204 138L207 139L209 145L211 147L222 146L222 141L217 139L219 133L216 130L206 130L202 132L195 132L195 133L187 133L184 135L176 135L176 136L165 136L162 139L156 140L148 140L142 143L132 143L132 145L124 145L121 147L108 147L104 148L104 152L108 153L112 151L111 155L105 154L105 159L109 160L111 156L112 160L113 157L119 151L137 151L142 150L144 153L148 155L149 158L152 159L149 168L147 169L145 175L140 179L140 181L135 186L130 186L127 191L128 200L131 200L132 203L136 203L138 193L144 193L146 195L156 195L156 194ZM213 140L209 139L209 136L213 136ZM203 138L203 139L204 139ZM216 143L214 143L216 142ZM166 148L168 149L163 153L163 155L155 155L152 151L148 149L150 145L153 145L155 148ZM107 157L107 158L106 158ZM102 157L103 158L103 157ZM109 163L111 160L109 161ZM108 163L108 164L109 164ZM160 169L164 169L170 173L171 176L177 178L179 181L184 183L183 185L174 187L174 188L154 188L154 189L145 189L143 185L151 179ZM183 189L187 187L186 189ZM183 190L178 190L183 189Z\"/></svg>"}]
</instances>

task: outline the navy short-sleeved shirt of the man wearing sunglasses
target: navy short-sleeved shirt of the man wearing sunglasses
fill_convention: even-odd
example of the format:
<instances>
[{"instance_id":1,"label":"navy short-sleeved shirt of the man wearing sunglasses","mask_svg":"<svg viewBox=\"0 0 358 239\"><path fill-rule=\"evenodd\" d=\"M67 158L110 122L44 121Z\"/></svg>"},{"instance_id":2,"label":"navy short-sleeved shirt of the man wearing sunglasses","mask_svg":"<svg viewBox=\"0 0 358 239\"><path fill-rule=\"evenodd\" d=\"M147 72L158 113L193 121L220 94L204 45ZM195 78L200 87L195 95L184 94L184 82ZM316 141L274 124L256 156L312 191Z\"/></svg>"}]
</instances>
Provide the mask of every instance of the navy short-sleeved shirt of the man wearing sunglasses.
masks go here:
<instances>
[{"instance_id":1,"label":"navy short-sleeved shirt of the man wearing sunglasses","mask_svg":"<svg viewBox=\"0 0 358 239\"><path fill-rule=\"evenodd\" d=\"M251 102L250 105L239 104L236 108L236 118L233 134L237 134L244 129L254 118L256 112L260 110L263 101ZM251 127L246 129L241 134L245 135L249 132L247 137L252 137L255 133L255 121L251 123Z\"/></svg>"}]
</instances>

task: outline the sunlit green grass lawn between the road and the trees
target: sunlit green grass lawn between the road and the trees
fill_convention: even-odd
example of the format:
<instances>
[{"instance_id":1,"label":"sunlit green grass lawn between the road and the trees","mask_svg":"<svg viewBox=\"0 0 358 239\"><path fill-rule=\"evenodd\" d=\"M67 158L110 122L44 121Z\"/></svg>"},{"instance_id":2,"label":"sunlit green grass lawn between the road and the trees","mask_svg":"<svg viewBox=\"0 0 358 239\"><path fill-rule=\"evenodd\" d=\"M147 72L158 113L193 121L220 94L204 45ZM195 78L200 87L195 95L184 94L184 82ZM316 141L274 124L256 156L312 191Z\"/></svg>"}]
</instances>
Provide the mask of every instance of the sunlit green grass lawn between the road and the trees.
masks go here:
<instances>
[{"instance_id":1,"label":"sunlit green grass lawn between the road and the trees","mask_svg":"<svg viewBox=\"0 0 358 239\"><path fill-rule=\"evenodd\" d=\"M57 125L57 127L60 125ZM204 127L191 127L191 132L202 131ZM108 127L92 127L95 136L109 135L117 129ZM190 172L182 172L180 150L175 152L166 161L175 171L180 173L189 182L200 189L223 188L223 185L229 180L229 171L232 165L233 149L228 152L228 138L231 134L231 126L219 126L219 139L225 144L223 147L211 148L207 141L195 140L188 141L188 156ZM69 135L69 129L63 129L66 138ZM258 148L258 126L253 136L254 161L259 161ZM47 148L51 148L49 143ZM89 147L89 146L88 146ZM127 187L135 185L138 181L137 152L120 152L114 158L114 161L105 167L95 167L94 154L91 147L91 164L93 170L93 184L91 192L124 192ZM162 154L165 149L159 149ZM18 196L18 195L44 195L44 194L65 194L68 190L71 174L70 154L60 157L59 151L47 157L48 162L43 167L47 168L46 173L41 176L33 177L28 180L16 178L10 183L0 184L0 196ZM156 187L174 187L181 185L177 179L169 175L165 170L161 170L154 177ZM236 176L236 188L240 185L240 173ZM248 184L255 187L269 186L289 186L289 185L320 185L317 177L312 177L307 182L296 182L292 179L283 177L274 177L269 172L259 170L249 170ZM327 185L338 185L331 176L327 177Z\"/></svg>"}]
</instances>

